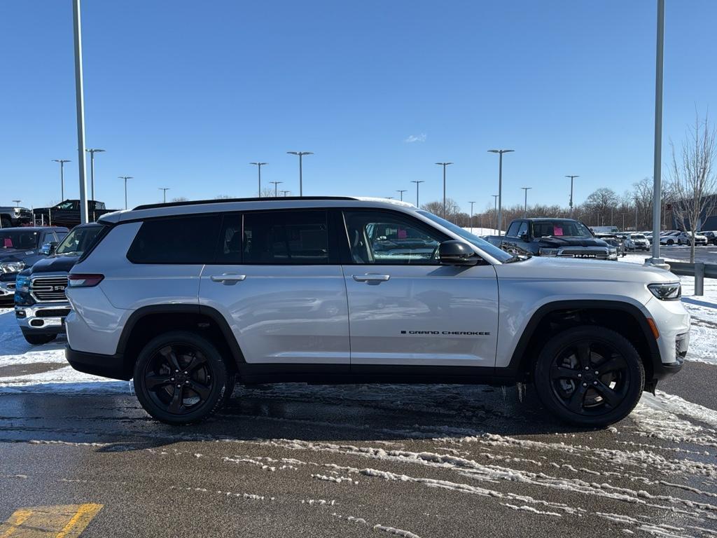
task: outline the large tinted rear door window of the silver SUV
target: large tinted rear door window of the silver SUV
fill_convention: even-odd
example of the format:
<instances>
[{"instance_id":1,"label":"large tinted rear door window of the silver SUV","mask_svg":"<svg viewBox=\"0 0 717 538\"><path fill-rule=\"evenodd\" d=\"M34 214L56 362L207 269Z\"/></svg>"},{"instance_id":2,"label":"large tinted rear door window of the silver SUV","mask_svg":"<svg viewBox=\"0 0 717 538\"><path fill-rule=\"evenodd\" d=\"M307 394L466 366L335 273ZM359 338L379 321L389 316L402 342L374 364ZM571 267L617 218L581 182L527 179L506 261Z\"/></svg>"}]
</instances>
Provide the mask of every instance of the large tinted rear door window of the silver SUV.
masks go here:
<instances>
[{"instance_id":1,"label":"large tinted rear door window of the silver SUV","mask_svg":"<svg viewBox=\"0 0 717 538\"><path fill-rule=\"evenodd\" d=\"M243 263L328 263L326 211L244 214Z\"/></svg>"}]
</instances>

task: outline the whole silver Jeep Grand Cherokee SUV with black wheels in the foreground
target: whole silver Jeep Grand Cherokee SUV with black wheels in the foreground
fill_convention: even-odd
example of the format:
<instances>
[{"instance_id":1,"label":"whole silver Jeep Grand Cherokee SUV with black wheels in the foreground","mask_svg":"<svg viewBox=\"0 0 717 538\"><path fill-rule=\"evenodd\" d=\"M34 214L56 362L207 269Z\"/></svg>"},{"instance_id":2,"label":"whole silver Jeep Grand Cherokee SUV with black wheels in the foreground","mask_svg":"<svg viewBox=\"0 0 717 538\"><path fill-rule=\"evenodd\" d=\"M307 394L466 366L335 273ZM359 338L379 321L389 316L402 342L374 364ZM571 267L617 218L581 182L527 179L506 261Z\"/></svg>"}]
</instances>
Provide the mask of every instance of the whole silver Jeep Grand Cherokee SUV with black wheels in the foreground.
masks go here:
<instances>
[{"instance_id":1,"label":"whole silver Jeep Grand Cherokee SUV with black wheels in the foreground","mask_svg":"<svg viewBox=\"0 0 717 538\"><path fill-rule=\"evenodd\" d=\"M67 360L134 379L171 424L240 383L532 382L607 425L677 372L690 317L665 270L518 258L411 204L262 198L141 206L70 273Z\"/></svg>"}]
</instances>

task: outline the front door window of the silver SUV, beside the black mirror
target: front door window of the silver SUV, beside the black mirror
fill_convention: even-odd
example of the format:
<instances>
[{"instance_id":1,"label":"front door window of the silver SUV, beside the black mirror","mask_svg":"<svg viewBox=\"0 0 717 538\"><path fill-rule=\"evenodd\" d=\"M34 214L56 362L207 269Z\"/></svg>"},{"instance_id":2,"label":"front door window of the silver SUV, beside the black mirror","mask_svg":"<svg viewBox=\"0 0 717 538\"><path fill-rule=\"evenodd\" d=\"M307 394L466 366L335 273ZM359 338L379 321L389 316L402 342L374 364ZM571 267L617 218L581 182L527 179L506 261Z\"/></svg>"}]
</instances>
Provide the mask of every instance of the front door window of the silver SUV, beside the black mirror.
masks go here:
<instances>
[{"instance_id":1,"label":"front door window of the silver SUV, beside the black mirror","mask_svg":"<svg viewBox=\"0 0 717 538\"><path fill-rule=\"evenodd\" d=\"M445 237L409 217L391 212L347 211L346 235L353 263L437 265Z\"/></svg>"}]
</instances>

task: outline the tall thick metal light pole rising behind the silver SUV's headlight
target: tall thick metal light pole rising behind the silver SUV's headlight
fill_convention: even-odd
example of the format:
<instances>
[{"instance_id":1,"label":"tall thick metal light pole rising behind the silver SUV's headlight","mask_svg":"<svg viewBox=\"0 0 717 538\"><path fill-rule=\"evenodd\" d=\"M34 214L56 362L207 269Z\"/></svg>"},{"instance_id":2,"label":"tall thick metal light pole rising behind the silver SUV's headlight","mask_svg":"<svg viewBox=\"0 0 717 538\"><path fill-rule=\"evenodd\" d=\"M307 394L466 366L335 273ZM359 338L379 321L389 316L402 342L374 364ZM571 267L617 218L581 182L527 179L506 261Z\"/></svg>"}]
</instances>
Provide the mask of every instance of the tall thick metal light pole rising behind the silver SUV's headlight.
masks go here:
<instances>
[{"instance_id":1,"label":"tall thick metal light pole rising behind the silver SUV's headlight","mask_svg":"<svg viewBox=\"0 0 717 538\"><path fill-rule=\"evenodd\" d=\"M657 0L657 50L655 53L655 161L652 169L652 258L648 265L665 266L660 258L660 195L663 160L663 53L665 49L665 0Z\"/></svg>"}]
</instances>

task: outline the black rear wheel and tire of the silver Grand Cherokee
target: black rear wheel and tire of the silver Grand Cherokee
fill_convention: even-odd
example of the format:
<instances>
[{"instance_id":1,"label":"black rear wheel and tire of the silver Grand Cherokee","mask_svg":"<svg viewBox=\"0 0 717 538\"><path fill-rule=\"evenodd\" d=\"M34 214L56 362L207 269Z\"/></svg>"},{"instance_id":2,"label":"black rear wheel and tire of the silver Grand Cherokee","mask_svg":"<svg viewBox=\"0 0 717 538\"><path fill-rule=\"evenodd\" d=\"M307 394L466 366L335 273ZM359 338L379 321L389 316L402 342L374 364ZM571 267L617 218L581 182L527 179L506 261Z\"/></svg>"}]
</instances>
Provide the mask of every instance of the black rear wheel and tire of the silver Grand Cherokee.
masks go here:
<instances>
[{"instance_id":1,"label":"black rear wheel and tire of the silver Grand Cherokee","mask_svg":"<svg viewBox=\"0 0 717 538\"><path fill-rule=\"evenodd\" d=\"M217 348L189 331L152 339L134 367L134 387L142 407L171 425L196 424L212 416L229 399L233 384Z\"/></svg>"}]
</instances>

